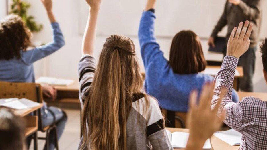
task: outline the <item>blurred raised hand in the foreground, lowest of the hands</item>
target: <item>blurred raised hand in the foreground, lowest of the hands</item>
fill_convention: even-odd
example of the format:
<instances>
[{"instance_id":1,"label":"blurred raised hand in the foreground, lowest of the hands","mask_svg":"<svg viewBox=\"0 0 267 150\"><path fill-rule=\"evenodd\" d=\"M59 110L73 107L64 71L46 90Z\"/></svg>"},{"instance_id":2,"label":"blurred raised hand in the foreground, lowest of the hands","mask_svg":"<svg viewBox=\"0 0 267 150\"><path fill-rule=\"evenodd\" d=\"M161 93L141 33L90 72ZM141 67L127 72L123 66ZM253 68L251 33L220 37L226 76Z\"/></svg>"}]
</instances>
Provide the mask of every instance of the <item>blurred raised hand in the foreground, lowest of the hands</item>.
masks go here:
<instances>
[{"instance_id":1,"label":"blurred raised hand in the foreground, lowest of the hands","mask_svg":"<svg viewBox=\"0 0 267 150\"><path fill-rule=\"evenodd\" d=\"M217 112L226 90L223 89L217 105L214 110L211 110L214 86L214 83L207 83L203 86L198 106L196 104L197 91L193 91L190 95L190 108L187 116L190 135L187 142L187 149L202 149L205 141L215 131L219 130L223 123L225 112L222 113L221 117L217 116Z\"/></svg>"}]
</instances>

